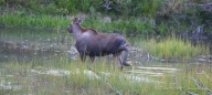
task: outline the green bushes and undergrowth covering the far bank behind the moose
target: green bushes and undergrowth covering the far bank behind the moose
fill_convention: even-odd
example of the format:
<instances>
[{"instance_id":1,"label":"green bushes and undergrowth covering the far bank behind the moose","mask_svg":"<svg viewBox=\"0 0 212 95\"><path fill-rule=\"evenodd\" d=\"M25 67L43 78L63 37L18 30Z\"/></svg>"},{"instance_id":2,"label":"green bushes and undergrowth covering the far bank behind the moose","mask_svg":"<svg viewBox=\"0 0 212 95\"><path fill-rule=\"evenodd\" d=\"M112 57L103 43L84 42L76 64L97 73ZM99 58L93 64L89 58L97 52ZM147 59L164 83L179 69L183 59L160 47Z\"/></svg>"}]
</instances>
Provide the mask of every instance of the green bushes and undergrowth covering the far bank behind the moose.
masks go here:
<instances>
[{"instance_id":1,"label":"green bushes and undergrowth covering the far bank behind the moose","mask_svg":"<svg viewBox=\"0 0 212 95\"><path fill-rule=\"evenodd\" d=\"M112 9L106 9L103 6L105 4L104 1L110 2L109 7ZM108 29L114 29L109 31L116 31L117 29L123 32L163 34L168 31L193 32L199 25L202 25L204 32L210 32L210 25L212 24L210 9L212 8L210 4L208 6L209 2L206 0L0 0L0 13L2 15L0 24L13 24L14 27L41 27L43 24L42 28L55 28L54 23L50 22L53 18L63 17L60 21L64 21L65 17L83 12L88 14L88 19L92 19L89 21L94 20L94 22L98 22L95 19L98 19L99 14L102 17L109 15L112 23L104 23ZM38 23L29 25L30 22L35 22L31 19L25 19L30 21L14 20L15 15L17 19L20 17L32 18ZM8 20L6 17L13 18L14 21ZM45 17L49 22L39 22L43 20L34 19L41 17ZM3 20L4 18L6 20ZM66 19L70 20L71 18ZM67 24L67 21L63 23ZM105 31L106 28L98 25L99 23L89 23L88 27ZM65 27L62 25L62 28Z\"/></svg>"}]
</instances>

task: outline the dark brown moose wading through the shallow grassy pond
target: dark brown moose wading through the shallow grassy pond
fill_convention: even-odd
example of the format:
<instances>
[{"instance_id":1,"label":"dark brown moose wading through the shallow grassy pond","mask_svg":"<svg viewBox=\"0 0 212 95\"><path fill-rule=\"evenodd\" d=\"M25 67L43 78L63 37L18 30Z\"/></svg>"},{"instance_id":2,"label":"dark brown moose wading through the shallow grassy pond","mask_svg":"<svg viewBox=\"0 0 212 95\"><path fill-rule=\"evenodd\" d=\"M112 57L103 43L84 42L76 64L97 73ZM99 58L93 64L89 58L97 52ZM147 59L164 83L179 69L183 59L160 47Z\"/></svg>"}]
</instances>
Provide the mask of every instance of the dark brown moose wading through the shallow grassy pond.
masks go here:
<instances>
[{"instance_id":1,"label":"dark brown moose wading through the shallow grassy pond","mask_svg":"<svg viewBox=\"0 0 212 95\"><path fill-rule=\"evenodd\" d=\"M95 56L105 56L113 54L118 67L123 71L124 66L130 66L127 63L130 45L126 39L118 33L100 33L92 28L83 28L83 19L74 18L70 23L67 31L74 34L75 48L80 53L82 62L85 62L86 55L93 63ZM124 59L121 53L125 52Z\"/></svg>"}]
</instances>

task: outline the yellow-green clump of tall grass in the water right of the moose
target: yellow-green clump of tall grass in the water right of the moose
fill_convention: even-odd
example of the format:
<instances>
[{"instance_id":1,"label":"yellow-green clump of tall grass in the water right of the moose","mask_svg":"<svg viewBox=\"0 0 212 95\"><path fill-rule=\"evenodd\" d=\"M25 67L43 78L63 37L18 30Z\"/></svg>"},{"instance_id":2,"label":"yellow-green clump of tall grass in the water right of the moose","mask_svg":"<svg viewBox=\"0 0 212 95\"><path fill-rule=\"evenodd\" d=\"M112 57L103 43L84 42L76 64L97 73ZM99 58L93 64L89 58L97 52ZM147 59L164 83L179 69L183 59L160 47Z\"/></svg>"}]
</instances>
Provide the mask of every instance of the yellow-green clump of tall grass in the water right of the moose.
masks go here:
<instances>
[{"instance_id":1,"label":"yellow-green clump of tall grass in the water right of the moose","mask_svg":"<svg viewBox=\"0 0 212 95\"><path fill-rule=\"evenodd\" d=\"M162 40L151 39L148 43L144 43L141 49L149 52L153 56L162 59L192 57L198 55L208 55L208 44L198 43L193 45L189 40L182 40L174 35Z\"/></svg>"}]
</instances>

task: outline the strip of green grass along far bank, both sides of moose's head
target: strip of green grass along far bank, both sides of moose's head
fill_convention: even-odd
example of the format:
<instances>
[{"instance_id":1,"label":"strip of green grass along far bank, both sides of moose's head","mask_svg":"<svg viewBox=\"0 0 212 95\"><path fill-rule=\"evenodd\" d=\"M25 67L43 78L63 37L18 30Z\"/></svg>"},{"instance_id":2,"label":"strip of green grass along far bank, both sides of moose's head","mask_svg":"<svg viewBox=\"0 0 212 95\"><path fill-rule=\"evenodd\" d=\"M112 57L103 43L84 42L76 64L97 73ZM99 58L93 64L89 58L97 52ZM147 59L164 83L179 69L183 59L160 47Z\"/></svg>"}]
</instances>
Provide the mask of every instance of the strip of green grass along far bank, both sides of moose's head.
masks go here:
<instances>
[{"instance_id":1,"label":"strip of green grass along far bank, both sides of moose's head","mask_svg":"<svg viewBox=\"0 0 212 95\"><path fill-rule=\"evenodd\" d=\"M63 17L63 15L34 15L25 13L6 13L0 17L0 25L3 27L22 27L22 28L49 28L49 29L66 29L72 22L74 17ZM148 20L136 20L134 18L129 20L116 20L113 22L105 22L103 17L98 18L87 17L82 23L83 27L94 28L100 32L152 32Z\"/></svg>"}]
</instances>

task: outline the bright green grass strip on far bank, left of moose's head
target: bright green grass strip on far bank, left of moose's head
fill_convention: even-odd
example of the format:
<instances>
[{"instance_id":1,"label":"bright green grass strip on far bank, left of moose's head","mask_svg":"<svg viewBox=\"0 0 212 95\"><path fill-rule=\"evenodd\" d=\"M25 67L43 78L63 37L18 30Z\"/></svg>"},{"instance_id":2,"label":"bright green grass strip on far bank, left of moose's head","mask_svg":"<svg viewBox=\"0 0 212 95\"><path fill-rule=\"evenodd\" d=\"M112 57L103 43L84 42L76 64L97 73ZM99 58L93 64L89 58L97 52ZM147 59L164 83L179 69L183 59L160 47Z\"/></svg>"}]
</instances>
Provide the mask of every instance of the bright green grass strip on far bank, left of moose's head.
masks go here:
<instances>
[{"instance_id":1,"label":"bright green grass strip on far bank, left of moose's head","mask_svg":"<svg viewBox=\"0 0 212 95\"><path fill-rule=\"evenodd\" d=\"M33 15L21 13L6 13L0 17L0 24L6 27L26 27L26 28L65 28L70 19L62 15Z\"/></svg>"}]
</instances>

